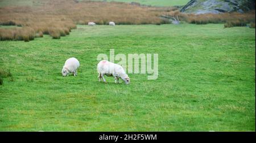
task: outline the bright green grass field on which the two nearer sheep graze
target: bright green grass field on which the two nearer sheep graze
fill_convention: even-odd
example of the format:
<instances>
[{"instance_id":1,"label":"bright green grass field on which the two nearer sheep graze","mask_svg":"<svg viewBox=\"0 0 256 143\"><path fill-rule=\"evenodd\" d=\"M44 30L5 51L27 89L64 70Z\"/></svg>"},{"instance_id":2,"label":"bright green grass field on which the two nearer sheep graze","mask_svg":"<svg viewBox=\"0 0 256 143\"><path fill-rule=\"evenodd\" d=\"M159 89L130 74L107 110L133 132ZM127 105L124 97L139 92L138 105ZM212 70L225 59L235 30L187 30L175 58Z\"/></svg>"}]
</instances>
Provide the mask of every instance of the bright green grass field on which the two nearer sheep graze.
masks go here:
<instances>
[{"instance_id":1,"label":"bright green grass field on which the two nearer sheep graze","mask_svg":"<svg viewBox=\"0 0 256 143\"><path fill-rule=\"evenodd\" d=\"M255 29L223 24L78 25L0 41L0 131L255 131ZM97 55L158 53L159 76L97 79ZM67 58L78 76L62 77Z\"/></svg>"}]
</instances>

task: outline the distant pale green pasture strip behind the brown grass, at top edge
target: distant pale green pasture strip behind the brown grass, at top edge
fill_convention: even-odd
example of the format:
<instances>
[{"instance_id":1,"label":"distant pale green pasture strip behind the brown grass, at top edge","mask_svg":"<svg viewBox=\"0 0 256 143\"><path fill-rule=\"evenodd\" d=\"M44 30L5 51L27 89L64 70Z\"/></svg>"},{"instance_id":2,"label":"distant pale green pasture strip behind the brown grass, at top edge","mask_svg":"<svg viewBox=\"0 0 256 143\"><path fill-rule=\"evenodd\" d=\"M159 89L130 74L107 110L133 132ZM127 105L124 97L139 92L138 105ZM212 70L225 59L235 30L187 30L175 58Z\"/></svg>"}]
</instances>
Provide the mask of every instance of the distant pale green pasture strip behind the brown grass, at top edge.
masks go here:
<instances>
[{"instance_id":1,"label":"distant pale green pasture strip behind the brown grass, at top edge","mask_svg":"<svg viewBox=\"0 0 256 143\"><path fill-rule=\"evenodd\" d=\"M101 0L93 0L93 1L101 1ZM151 6L184 6L189 0L108 0L108 2L139 2L143 5L151 5Z\"/></svg>"}]
</instances>

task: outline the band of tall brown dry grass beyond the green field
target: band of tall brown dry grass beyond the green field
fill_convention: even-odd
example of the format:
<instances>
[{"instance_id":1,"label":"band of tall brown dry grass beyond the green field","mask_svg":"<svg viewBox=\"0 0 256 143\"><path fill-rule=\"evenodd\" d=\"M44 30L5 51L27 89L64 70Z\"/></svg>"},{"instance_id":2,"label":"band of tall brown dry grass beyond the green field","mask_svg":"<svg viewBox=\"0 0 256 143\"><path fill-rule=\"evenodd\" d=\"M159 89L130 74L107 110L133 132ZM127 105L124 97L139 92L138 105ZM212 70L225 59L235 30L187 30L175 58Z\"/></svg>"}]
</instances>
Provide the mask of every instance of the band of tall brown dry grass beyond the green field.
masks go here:
<instances>
[{"instance_id":1,"label":"band of tall brown dry grass beyond the green field","mask_svg":"<svg viewBox=\"0 0 256 143\"><path fill-rule=\"evenodd\" d=\"M41 2L41 1L40 1ZM225 13L193 15L180 13L175 7L146 7L122 2L92 2L44 0L40 6L0 7L0 25L17 25L21 28L0 28L0 40L30 41L49 34L53 38L66 36L76 24L164 24L168 19L160 15L178 16L188 23L255 23L255 11L248 14ZM239 25L239 24L234 24Z\"/></svg>"}]
</instances>

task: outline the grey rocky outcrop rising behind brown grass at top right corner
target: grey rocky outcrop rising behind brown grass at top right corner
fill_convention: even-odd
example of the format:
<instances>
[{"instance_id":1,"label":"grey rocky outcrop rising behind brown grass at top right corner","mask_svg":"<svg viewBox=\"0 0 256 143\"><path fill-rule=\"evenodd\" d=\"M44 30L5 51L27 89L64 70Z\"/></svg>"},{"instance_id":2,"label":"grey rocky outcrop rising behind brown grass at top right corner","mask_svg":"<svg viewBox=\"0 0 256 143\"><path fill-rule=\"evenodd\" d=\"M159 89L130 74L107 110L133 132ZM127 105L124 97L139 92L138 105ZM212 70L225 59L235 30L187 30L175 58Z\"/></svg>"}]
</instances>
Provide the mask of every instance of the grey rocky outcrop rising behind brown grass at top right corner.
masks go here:
<instances>
[{"instance_id":1,"label":"grey rocky outcrop rising behind brown grass at top right corner","mask_svg":"<svg viewBox=\"0 0 256 143\"><path fill-rule=\"evenodd\" d=\"M246 12L255 10L254 0L191 0L181 12L194 14L219 14L222 12Z\"/></svg>"}]
</instances>

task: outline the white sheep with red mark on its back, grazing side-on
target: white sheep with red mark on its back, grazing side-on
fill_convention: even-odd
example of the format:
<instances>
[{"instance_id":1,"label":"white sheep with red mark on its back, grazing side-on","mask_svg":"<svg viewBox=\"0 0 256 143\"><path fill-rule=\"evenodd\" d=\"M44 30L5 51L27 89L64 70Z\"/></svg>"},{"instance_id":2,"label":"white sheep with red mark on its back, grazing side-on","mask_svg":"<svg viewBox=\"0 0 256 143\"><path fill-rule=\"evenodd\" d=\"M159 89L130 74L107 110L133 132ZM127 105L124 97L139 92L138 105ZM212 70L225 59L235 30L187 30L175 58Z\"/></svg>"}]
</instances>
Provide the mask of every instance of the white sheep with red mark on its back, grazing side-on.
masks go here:
<instances>
[{"instance_id":1,"label":"white sheep with red mark on its back, grazing side-on","mask_svg":"<svg viewBox=\"0 0 256 143\"><path fill-rule=\"evenodd\" d=\"M106 75L113 76L115 78L115 83L119 83L119 78L125 81L125 84L130 83L130 78L125 73L125 70L123 70L123 67L119 64L115 64L107 60L101 60L101 62L99 62L97 65L97 72L98 81L101 81L101 79L103 79L103 81L106 83L106 80L104 78L104 75Z\"/></svg>"}]
</instances>

